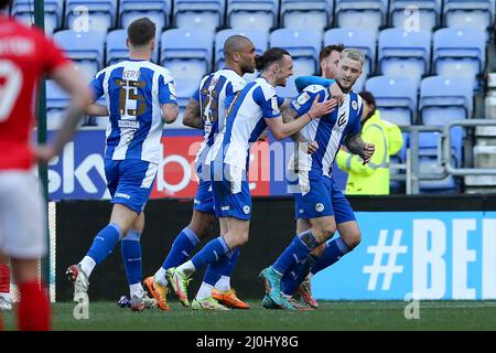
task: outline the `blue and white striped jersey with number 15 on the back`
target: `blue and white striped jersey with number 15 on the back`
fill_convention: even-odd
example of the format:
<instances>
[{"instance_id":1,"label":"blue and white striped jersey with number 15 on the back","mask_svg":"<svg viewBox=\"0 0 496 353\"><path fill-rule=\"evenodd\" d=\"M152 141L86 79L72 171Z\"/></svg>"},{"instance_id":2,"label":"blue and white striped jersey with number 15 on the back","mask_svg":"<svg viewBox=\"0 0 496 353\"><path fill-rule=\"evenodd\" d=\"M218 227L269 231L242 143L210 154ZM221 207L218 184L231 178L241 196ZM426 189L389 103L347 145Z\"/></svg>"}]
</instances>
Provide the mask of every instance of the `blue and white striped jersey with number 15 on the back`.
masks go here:
<instances>
[{"instance_id":1,"label":"blue and white striped jersey with number 15 on the back","mask_svg":"<svg viewBox=\"0 0 496 353\"><path fill-rule=\"evenodd\" d=\"M162 105L176 104L170 72L144 60L127 60L100 71L94 98L105 95L110 114L105 158L159 163Z\"/></svg>"}]
</instances>

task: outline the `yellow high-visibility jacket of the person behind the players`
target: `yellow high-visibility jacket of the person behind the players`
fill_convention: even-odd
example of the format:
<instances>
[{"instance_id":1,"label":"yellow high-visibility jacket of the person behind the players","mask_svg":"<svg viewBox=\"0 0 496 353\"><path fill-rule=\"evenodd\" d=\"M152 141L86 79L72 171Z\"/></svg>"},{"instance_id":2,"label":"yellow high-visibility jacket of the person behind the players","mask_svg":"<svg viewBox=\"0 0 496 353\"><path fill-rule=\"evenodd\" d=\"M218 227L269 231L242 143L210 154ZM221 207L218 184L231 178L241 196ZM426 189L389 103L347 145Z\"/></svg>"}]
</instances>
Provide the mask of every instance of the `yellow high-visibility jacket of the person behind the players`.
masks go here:
<instances>
[{"instance_id":1,"label":"yellow high-visibility jacket of the person behind the players","mask_svg":"<svg viewBox=\"0 0 496 353\"><path fill-rule=\"evenodd\" d=\"M346 182L347 195L389 194L390 149L388 148L388 124L390 122L380 119L380 113L376 110L362 127L362 139L365 142L374 143L376 147L374 156L367 164L363 165L362 158L356 154L343 150L339 150L337 153L337 165L348 172ZM402 141L400 148L401 145Z\"/></svg>"}]
</instances>

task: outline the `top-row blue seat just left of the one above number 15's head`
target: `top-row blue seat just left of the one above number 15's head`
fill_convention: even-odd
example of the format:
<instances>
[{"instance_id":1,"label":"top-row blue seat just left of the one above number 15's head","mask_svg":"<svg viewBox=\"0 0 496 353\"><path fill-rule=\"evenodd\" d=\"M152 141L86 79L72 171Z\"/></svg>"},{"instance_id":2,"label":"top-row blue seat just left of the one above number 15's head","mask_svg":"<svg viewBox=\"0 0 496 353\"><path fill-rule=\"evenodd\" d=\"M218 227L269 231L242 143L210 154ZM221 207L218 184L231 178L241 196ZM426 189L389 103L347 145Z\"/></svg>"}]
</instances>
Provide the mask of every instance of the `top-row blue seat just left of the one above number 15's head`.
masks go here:
<instances>
[{"instance_id":1,"label":"top-row blue seat just left of the one above number 15's head","mask_svg":"<svg viewBox=\"0 0 496 353\"><path fill-rule=\"evenodd\" d=\"M66 28L76 32L107 32L117 18L117 0L66 0Z\"/></svg>"}]
</instances>

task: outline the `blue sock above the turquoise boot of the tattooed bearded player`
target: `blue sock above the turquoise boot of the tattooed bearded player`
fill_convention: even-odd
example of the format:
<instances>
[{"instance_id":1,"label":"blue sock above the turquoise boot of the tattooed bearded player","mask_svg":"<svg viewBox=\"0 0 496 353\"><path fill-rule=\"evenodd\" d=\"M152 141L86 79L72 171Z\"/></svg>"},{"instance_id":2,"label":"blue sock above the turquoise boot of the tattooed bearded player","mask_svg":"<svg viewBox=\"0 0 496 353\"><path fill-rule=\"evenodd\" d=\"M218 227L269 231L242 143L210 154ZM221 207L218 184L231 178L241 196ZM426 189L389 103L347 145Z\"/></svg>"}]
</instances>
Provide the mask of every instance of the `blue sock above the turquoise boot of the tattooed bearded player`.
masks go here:
<instances>
[{"instance_id":1,"label":"blue sock above the turquoise boot of the tattooed bearded player","mask_svg":"<svg viewBox=\"0 0 496 353\"><path fill-rule=\"evenodd\" d=\"M272 265L272 268L283 275L290 267L304 259L317 246L319 242L313 236L312 231L303 232L293 238L291 244Z\"/></svg>"}]
</instances>

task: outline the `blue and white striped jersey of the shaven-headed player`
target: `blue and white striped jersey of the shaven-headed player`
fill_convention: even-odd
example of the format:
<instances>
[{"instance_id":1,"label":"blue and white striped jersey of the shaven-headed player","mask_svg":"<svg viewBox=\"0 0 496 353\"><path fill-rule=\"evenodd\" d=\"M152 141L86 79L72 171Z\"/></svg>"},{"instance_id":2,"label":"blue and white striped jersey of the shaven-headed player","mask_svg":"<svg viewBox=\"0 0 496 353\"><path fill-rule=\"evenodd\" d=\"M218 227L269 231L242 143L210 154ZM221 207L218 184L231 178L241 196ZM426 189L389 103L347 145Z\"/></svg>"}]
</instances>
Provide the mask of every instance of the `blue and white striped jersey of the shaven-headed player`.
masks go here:
<instances>
[{"instance_id":1,"label":"blue and white striped jersey of the shaven-headed player","mask_svg":"<svg viewBox=\"0 0 496 353\"><path fill-rule=\"evenodd\" d=\"M246 86L246 81L234 69L222 68L206 75L200 83L193 99L200 103L204 121L204 140L196 153L196 169L201 174L202 164L206 162L209 149L218 131L224 128L226 113L236 94Z\"/></svg>"}]
</instances>

